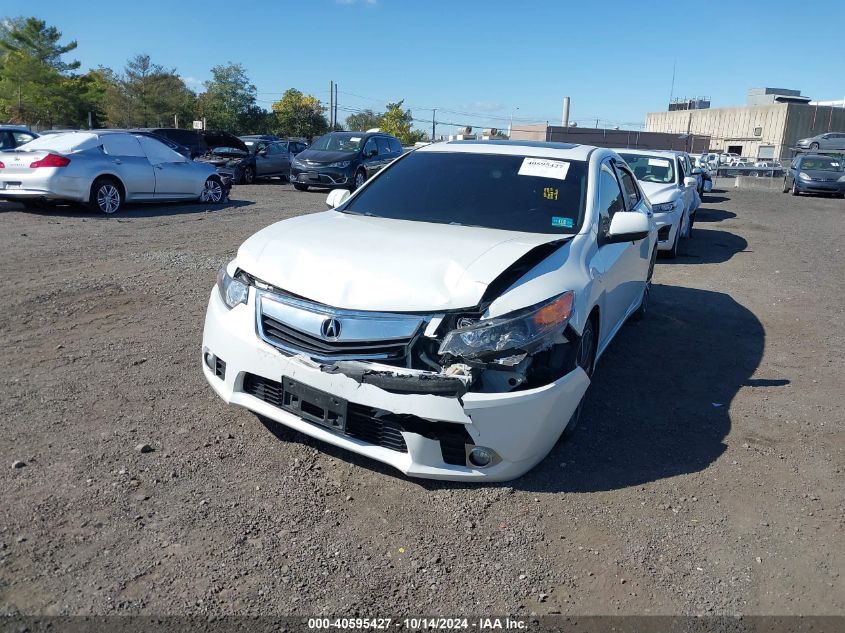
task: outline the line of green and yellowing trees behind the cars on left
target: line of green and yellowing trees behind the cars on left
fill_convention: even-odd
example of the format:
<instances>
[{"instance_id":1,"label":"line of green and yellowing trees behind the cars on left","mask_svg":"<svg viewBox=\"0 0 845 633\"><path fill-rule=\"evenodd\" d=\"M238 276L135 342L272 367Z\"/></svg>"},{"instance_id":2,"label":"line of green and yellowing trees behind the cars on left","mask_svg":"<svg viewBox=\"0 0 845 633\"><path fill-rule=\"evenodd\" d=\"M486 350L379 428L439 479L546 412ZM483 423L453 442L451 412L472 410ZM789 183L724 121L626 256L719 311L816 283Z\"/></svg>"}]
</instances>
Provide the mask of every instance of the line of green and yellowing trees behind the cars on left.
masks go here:
<instances>
[{"instance_id":1,"label":"line of green and yellowing trees behind the cars on left","mask_svg":"<svg viewBox=\"0 0 845 633\"><path fill-rule=\"evenodd\" d=\"M0 122L36 129L190 127L204 120L208 129L233 134L278 134L313 138L329 131L326 107L313 95L289 88L270 110L257 103L246 69L229 62L211 69L211 79L195 92L176 68L147 54L127 60L121 70L98 66L79 72L66 58L77 41L62 43L62 32L34 17L0 18ZM425 138L414 130L403 102L384 112L351 114L346 129L378 127L411 144ZM343 129L338 125L336 129Z\"/></svg>"}]
</instances>

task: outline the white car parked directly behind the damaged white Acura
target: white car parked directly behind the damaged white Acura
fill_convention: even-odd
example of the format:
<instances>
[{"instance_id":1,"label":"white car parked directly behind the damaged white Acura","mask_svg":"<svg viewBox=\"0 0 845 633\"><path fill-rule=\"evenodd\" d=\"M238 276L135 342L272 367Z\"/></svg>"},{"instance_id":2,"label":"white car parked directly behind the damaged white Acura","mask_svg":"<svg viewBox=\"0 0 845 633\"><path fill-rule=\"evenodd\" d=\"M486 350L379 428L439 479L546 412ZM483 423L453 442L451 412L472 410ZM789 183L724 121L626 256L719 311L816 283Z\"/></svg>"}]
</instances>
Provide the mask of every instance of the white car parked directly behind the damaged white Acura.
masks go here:
<instances>
[{"instance_id":1,"label":"white car parked directly behind the damaged white Acura","mask_svg":"<svg viewBox=\"0 0 845 633\"><path fill-rule=\"evenodd\" d=\"M687 238L700 203L698 181L685 176L677 152L618 149L651 202L657 225L657 248L677 257L681 238ZM698 202L697 202L698 201Z\"/></svg>"}]
</instances>

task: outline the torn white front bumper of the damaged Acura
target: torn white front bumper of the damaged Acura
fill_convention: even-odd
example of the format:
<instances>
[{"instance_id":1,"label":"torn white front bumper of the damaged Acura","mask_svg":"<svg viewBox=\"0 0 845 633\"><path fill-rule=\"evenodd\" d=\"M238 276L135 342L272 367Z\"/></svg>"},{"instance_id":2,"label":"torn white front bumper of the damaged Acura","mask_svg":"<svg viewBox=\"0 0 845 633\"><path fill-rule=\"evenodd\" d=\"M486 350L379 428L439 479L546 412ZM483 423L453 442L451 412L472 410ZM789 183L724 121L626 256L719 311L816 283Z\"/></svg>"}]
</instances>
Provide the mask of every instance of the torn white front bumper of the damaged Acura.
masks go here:
<instances>
[{"instance_id":1,"label":"torn white front bumper of the damaged Acura","mask_svg":"<svg viewBox=\"0 0 845 633\"><path fill-rule=\"evenodd\" d=\"M255 300L251 289L247 304L229 310L211 292L202 367L218 395L410 476L522 475L552 449L589 385L576 367L536 388L480 393L461 375L286 355L258 336ZM469 459L476 447L492 451L487 466Z\"/></svg>"}]
</instances>

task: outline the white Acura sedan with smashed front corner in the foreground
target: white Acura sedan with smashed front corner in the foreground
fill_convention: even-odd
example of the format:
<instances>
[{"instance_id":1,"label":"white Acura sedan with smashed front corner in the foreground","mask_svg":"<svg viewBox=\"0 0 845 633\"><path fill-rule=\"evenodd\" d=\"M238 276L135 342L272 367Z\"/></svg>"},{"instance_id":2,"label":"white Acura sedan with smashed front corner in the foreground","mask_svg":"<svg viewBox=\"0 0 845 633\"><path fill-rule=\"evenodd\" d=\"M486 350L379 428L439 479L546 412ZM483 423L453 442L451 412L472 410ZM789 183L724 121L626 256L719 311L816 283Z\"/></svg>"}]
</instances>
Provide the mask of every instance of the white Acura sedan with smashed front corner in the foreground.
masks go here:
<instances>
[{"instance_id":1,"label":"white Acura sedan with smashed front corner in the foreground","mask_svg":"<svg viewBox=\"0 0 845 633\"><path fill-rule=\"evenodd\" d=\"M329 204L220 271L202 368L226 402L408 475L531 469L645 311L656 228L611 150L436 143Z\"/></svg>"}]
</instances>

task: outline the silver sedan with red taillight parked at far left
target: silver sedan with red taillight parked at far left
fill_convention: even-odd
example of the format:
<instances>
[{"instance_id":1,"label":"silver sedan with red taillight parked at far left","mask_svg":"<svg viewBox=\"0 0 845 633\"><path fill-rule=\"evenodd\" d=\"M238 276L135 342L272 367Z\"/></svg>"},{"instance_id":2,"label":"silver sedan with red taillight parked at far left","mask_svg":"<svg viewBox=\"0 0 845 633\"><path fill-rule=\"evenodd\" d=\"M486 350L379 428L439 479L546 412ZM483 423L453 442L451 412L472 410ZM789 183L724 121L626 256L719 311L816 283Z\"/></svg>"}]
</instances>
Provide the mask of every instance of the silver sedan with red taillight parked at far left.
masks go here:
<instances>
[{"instance_id":1,"label":"silver sedan with red taillight parked at far left","mask_svg":"<svg viewBox=\"0 0 845 633\"><path fill-rule=\"evenodd\" d=\"M27 207L67 200L112 214L124 202L220 202L226 186L212 165L129 132L49 134L0 152L0 199Z\"/></svg>"}]
</instances>

